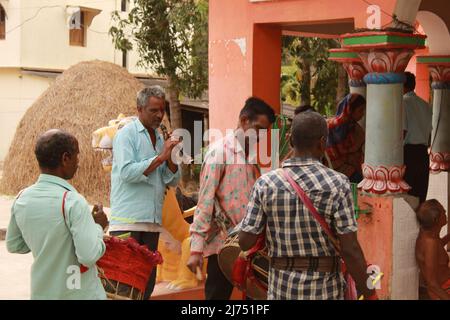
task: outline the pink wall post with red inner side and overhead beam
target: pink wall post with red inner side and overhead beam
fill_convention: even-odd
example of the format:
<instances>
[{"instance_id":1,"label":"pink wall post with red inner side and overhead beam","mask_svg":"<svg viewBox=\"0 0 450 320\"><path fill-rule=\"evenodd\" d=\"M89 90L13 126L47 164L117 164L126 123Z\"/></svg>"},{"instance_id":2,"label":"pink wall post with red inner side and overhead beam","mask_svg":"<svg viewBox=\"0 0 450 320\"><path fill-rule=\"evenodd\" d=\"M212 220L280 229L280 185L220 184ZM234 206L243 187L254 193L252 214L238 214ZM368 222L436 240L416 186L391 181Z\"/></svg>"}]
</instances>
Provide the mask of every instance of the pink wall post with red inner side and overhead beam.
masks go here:
<instances>
[{"instance_id":1,"label":"pink wall post with red inner side and overhead beam","mask_svg":"<svg viewBox=\"0 0 450 320\"><path fill-rule=\"evenodd\" d=\"M393 12L395 0L371 0ZM210 128L234 128L251 95L280 110L281 31L283 25L354 19L366 27L368 5L355 0L210 0ZM382 24L391 17L382 14Z\"/></svg>"}]
</instances>

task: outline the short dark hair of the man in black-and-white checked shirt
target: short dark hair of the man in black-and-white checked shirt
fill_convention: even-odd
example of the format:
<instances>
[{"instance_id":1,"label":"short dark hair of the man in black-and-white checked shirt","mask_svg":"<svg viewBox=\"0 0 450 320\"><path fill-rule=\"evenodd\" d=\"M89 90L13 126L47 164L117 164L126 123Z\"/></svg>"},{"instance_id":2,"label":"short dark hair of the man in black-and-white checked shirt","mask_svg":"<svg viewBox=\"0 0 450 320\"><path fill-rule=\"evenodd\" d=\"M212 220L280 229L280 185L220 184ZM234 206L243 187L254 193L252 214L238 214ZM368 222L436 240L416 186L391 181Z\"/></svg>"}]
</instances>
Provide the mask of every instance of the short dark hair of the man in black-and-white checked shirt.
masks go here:
<instances>
[{"instance_id":1,"label":"short dark hair of the man in black-and-white checked shirt","mask_svg":"<svg viewBox=\"0 0 450 320\"><path fill-rule=\"evenodd\" d=\"M291 145L297 150L314 146L317 141L328 136L327 121L315 111L302 112L292 120Z\"/></svg>"}]
</instances>

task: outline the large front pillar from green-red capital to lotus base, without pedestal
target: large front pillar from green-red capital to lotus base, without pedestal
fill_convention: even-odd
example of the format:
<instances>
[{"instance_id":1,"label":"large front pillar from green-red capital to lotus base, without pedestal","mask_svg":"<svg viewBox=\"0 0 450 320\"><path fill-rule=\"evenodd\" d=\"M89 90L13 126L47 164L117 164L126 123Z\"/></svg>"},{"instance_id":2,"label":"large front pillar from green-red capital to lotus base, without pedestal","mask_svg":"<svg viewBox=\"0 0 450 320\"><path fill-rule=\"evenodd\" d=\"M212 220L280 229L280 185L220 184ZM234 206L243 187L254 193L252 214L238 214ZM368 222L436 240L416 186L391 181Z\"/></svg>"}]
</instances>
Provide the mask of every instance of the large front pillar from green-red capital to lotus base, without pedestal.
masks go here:
<instances>
[{"instance_id":1,"label":"large front pillar from green-red capital to lotus base, without pedestal","mask_svg":"<svg viewBox=\"0 0 450 320\"><path fill-rule=\"evenodd\" d=\"M410 187L403 180L404 71L423 48L424 35L400 32L361 32L342 36L343 47L358 52L369 73L367 83L366 149L363 191L398 194Z\"/></svg>"}]
</instances>

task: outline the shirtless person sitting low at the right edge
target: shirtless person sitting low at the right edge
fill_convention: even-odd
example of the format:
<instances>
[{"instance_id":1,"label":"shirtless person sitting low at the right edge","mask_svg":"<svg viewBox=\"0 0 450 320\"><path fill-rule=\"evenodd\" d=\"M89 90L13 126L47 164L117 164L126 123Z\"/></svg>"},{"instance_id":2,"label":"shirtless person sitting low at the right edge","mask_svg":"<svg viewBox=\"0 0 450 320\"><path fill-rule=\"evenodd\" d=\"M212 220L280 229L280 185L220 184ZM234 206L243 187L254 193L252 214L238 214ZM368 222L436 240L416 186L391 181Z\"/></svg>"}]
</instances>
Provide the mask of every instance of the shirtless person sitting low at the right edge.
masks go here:
<instances>
[{"instance_id":1,"label":"shirtless person sitting low at the right edge","mask_svg":"<svg viewBox=\"0 0 450 320\"><path fill-rule=\"evenodd\" d=\"M447 224L444 207L439 201L427 200L417 209L420 232L416 241L416 260L427 291L433 300L450 300L449 257L445 245L449 235L440 238Z\"/></svg>"}]
</instances>

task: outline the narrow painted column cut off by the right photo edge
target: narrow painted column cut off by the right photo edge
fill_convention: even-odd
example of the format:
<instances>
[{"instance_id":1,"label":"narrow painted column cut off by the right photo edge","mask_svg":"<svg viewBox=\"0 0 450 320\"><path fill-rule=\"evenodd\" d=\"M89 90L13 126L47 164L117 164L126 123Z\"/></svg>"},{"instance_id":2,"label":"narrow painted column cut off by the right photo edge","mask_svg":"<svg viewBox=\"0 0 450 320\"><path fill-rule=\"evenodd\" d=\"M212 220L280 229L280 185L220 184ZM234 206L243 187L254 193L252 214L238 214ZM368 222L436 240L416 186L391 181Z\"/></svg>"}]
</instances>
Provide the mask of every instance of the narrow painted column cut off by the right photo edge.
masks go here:
<instances>
[{"instance_id":1,"label":"narrow painted column cut off by the right photo edge","mask_svg":"<svg viewBox=\"0 0 450 320\"><path fill-rule=\"evenodd\" d=\"M431 134L430 171L450 169L450 55L418 57L433 79L433 132Z\"/></svg>"}]
</instances>

